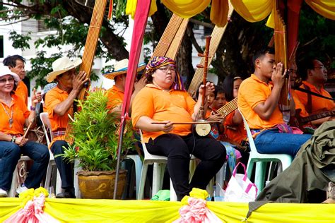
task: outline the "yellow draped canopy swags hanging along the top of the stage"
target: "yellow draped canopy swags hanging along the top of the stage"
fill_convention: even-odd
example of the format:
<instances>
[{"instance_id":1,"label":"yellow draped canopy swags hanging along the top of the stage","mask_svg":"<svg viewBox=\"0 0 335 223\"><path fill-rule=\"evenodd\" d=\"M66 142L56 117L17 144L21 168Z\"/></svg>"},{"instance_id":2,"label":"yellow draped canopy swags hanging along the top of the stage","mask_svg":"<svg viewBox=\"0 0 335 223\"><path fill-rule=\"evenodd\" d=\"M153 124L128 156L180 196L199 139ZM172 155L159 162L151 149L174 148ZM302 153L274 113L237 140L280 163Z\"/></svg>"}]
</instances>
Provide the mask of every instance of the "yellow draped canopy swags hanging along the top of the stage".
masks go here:
<instances>
[{"instance_id":1,"label":"yellow draped canopy swags hanging along the top of the stage","mask_svg":"<svg viewBox=\"0 0 335 223\"><path fill-rule=\"evenodd\" d=\"M162 3L173 13L183 18L190 18L204 11L211 0L162 0ZM335 20L334 0L305 0L305 2L320 15ZM128 0L126 13L134 18L137 0ZM264 20L274 8L274 0L230 0L235 11L249 22ZM151 1L149 16L157 11L155 1ZM211 20L218 26L224 26L228 15L228 0L212 0ZM224 23L224 24L223 24ZM268 24L271 24L268 23ZM271 25L270 25L271 26Z\"/></svg>"}]
</instances>

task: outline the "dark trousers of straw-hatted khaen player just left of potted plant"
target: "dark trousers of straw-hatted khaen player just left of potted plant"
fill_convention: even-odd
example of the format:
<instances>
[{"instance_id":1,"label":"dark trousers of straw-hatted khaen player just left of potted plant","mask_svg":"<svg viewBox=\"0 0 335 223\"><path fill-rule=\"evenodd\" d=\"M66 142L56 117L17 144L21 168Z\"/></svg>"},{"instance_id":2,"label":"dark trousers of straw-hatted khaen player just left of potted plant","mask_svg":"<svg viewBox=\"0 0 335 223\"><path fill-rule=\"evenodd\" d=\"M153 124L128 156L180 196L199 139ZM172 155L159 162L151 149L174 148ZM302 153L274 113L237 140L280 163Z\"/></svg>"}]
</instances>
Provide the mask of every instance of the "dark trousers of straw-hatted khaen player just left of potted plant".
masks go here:
<instances>
[{"instance_id":1,"label":"dark trousers of straw-hatted khaen player just left of potted plant","mask_svg":"<svg viewBox=\"0 0 335 223\"><path fill-rule=\"evenodd\" d=\"M64 147L69 147L69 144L64 140L57 140L52 144L51 152L54 156L63 154ZM54 161L57 164L59 175L61 175L61 188L71 190L74 188L74 167L71 163L64 160L63 157L55 157Z\"/></svg>"}]
</instances>

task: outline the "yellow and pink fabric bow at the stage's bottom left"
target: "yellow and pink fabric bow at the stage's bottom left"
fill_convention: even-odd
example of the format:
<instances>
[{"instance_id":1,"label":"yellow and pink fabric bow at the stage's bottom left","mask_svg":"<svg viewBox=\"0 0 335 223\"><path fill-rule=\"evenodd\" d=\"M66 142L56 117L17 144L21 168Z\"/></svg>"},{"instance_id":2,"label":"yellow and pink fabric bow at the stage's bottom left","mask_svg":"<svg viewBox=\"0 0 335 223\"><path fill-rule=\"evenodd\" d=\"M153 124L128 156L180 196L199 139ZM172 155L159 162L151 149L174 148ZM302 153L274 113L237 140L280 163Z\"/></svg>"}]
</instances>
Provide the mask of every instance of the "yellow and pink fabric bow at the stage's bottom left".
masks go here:
<instances>
[{"instance_id":1,"label":"yellow and pink fabric bow at the stage's bottom left","mask_svg":"<svg viewBox=\"0 0 335 223\"><path fill-rule=\"evenodd\" d=\"M45 197L48 195L45 188L29 189L20 193L20 200L22 200L23 208L20 208L14 215L6 219L5 223L9 222L27 222L27 223L40 223L40 222L59 222L52 216L44 212Z\"/></svg>"}]
</instances>

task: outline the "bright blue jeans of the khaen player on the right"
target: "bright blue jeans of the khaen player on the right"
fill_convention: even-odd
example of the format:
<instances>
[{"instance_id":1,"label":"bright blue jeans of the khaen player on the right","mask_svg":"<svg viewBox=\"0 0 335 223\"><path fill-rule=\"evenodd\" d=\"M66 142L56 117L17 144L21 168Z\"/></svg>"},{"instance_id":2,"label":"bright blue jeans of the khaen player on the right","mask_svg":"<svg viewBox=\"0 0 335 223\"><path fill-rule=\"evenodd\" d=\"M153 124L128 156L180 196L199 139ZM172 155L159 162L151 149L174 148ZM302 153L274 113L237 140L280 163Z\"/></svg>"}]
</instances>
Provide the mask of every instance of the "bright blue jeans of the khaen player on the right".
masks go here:
<instances>
[{"instance_id":1,"label":"bright blue jeans of the khaen player on the right","mask_svg":"<svg viewBox=\"0 0 335 223\"><path fill-rule=\"evenodd\" d=\"M310 139L310 134L279 133L278 129L262 131L254 139L259 153L288 154L293 157L297 154L300 146Z\"/></svg>"}]
</instances>

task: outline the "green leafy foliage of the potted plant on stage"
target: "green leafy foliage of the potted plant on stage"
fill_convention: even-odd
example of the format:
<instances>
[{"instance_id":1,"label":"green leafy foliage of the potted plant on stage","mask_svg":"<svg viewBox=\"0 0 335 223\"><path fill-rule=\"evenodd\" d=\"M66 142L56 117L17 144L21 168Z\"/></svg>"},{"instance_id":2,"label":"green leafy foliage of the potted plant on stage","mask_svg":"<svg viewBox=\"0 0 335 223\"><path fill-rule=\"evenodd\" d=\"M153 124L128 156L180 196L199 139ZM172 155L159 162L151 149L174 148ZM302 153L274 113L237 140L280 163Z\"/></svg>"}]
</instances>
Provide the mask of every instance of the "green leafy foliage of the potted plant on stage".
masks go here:
<instances>
[{"instance_id":1,"label":"green leafy foliage of the potted plant on stage","mask_svg":"<svg viewBox=\"0 0 335 223\"><path fill-rule=\"evenodd\" d=\"M114 170L117 164L119 116L109 113L107 95L102 90L90 92L86 100L78 101L79 111L74 114L74 145L61 155L68 161L78 159L84 171ZM134 131L127 123L122 143L122 157L134 150Z\"/></svg>"}]
</instances>

